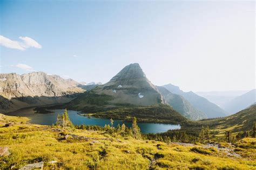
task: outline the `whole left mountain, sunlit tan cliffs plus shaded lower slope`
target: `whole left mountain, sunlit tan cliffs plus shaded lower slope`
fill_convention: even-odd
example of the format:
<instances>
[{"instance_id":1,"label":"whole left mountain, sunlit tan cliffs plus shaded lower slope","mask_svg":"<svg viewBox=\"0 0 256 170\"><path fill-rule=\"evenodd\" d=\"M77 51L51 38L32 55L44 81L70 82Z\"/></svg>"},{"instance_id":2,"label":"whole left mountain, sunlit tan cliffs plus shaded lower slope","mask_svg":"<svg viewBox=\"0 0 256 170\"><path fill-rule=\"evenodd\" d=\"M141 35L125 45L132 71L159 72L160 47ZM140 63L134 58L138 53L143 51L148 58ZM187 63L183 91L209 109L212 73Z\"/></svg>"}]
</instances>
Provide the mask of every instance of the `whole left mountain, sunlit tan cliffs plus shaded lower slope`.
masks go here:
<instances>
[{"instance_id":1,"label":"whole left mountain, sunlit tan cliffs plus shaded lower slope","mask_svg":"<svg viewBox=\"0 0 256 170\"><path fill-rule=\"evenodd\" d=\"M67 103L73 94L84 92L72 79L44 72L0 74L0 111L15 111L22 107Z\"/></svg>"}]
</instances>

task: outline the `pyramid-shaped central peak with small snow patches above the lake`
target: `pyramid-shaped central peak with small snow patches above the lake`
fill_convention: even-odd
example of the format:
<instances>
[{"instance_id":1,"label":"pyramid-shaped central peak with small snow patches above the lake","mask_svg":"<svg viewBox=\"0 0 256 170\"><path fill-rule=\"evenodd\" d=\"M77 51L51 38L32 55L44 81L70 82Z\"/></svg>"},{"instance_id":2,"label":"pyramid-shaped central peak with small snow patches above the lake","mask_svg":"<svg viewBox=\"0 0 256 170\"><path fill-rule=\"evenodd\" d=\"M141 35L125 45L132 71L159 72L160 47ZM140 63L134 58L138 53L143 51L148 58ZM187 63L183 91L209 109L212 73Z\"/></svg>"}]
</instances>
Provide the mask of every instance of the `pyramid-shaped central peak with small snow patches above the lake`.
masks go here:
<instances>
[{"instance_id":1,"label":"pyramid-shaped central peak with small snow patches above the lake","mask_svg":"<svg viewBox=\"0 0 256 170\"><path fill-rule=\"evenodd\" d=\"M124 67L109 82L71 101L69 106L84 112L97 112L106 108L149 106L163 104L158 92L138 63Z\"/></svg>"}]
</instances>

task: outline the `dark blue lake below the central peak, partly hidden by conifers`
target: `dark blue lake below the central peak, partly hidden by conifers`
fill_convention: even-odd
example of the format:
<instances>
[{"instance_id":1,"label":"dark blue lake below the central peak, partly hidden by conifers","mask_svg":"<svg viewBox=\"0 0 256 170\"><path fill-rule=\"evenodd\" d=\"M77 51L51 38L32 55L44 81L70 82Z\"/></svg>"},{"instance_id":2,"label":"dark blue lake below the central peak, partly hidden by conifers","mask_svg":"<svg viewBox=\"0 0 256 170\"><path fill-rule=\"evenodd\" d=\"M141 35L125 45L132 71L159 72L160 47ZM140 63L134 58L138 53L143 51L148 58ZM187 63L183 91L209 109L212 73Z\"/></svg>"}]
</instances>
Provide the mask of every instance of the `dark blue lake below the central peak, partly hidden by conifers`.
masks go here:
<instances>
[{"instance_id":1,"label":"dark blue lake below the central peak, partly hidden by conifers","mask_svg":"<svg viewBox=\"0 0 256 170\"><path fill-rule=\"evenodd\" d=\"M32 108L22 109L19 111L12 112L8 115L19 115L23 117L28 117L31 120L29 121L32 124L39 125L52 125L56 123L57 115L62 114L63 110L51 110L53 113L48 114L39 114L35 113ZM83 115L79 115L79 111L68 110L69 118L74 125L98 125L105 126L105 124L110 124L109 119L105 118L88 118ZM114 127L117 127L118 124L125 124L127 127L131 127L132 123L122 120L114 120ZM168 130L180 129L180 125L171 125L171 124L154 124L154 123L138 123L140 131L142 133L161 133Z\"/></svg>"}]
</instances>

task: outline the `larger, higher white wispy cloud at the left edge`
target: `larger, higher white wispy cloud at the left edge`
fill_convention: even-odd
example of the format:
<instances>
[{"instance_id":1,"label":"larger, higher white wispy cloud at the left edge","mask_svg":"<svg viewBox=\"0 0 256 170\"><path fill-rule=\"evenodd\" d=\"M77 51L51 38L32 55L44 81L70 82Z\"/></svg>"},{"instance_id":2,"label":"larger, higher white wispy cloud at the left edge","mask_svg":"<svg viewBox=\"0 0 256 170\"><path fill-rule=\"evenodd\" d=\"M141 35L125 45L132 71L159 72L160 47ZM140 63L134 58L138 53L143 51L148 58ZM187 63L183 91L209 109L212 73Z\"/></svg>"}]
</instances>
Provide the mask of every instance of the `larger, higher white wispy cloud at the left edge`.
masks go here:
<instances>
[{"instance_id":1,"label":"larger, higher white wispy cloud at the left edge","mask_svg":"<svg viewBox=\"0 0 256 170\"><path fill-rule=\"evenodd\" d=\"M42 49L42 45L36 42L36 40L29 37L19 37L22 41L11 40L0 35L0 45L8 47L10 49L25 50L29 47L35 47Z\"/></svg>"}]
</instances>

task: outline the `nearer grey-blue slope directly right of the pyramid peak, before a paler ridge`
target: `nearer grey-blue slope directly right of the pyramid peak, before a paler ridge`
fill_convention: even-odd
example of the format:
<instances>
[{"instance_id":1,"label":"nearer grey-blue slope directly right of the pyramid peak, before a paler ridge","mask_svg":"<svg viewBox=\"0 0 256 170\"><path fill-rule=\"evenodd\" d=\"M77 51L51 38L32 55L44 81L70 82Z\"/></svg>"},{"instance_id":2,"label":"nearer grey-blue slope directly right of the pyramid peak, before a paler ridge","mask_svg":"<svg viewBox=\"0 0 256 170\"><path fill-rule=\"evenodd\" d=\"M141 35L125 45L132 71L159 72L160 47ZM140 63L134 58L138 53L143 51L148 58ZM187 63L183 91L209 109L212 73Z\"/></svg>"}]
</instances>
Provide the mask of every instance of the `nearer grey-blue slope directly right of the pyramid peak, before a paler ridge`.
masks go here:
<instances>
[{"instance_id":1,"label":"nearer grey-blue slope directly right of the pyramid peak, before a paler ridge","mask_svg":"<svg viewBox=\"0 0 256 170\"><path fill-rule=\"evenodd\" d=\"M201 112L197 108L193 107L184 97L171 93L165 87L157 86L157 89L159 90L160 94L164 96L166 103L171 105L174 110L181 113L184 117L191 120L207 118L204 112Z\"/></svg>"}]
</instances>

